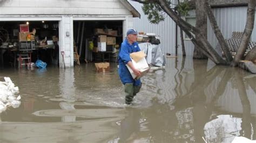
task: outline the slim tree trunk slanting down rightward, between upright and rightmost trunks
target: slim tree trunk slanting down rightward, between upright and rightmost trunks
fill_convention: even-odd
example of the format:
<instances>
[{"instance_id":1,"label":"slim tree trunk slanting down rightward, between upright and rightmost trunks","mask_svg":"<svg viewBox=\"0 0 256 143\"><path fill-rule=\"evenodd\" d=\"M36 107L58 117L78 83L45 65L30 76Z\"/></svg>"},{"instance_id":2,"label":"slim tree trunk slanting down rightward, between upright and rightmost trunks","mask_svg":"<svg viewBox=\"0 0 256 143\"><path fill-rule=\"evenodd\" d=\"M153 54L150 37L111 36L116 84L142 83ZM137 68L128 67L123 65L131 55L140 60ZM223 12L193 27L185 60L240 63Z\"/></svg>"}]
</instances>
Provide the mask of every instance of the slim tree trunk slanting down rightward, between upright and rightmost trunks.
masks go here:
<instances>
[{"instance_id":1,"label":"slim tree trunk slanting down rightward, between upright and rightmost trunks","mask_svg":"<svg viewBox=\"0 0 256 143\"><path fill-rule=\"evenodd\" d=\"M228 63L231 63L233 58L232 58L232 55L228 49L228 46L227 46L227 42L225 41L224 39L224 36L223 34L221 33L220 29L219 29L219 26L216 22L216 19L212 13L212 10L211 10L211 6L210 4L206 1L206 12L207 12L207 15L208 15L208 18L210 20L210 23L212 25L212 29L219 41L219 44L220 44L220 47L222 49L222 51L224 52L224 55L226 57L226 60Z\"/></svg>"}]
</instances>

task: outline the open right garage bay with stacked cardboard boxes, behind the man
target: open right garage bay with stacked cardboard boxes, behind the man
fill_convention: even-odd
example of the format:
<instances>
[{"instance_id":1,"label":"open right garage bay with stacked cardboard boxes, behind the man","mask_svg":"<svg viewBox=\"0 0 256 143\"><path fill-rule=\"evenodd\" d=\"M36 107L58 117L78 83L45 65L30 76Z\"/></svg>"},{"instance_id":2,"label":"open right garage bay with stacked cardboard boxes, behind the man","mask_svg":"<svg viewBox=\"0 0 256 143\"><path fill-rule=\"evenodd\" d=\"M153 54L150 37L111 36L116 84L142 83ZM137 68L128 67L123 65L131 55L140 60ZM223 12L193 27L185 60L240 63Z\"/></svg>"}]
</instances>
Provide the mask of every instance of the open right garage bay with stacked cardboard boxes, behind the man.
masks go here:
<instances>
[{"instance_id":1,"label":"open right garage bay with stacked cardboard boxes, behind the man","mask_svg":"<svg viewBox=\"0 0 256 143\"><path fill-rule=\"evenodd\" d=\"M123 20L75 20L73 38L80 62L115 62L123 41Z\"/></svg>"}]
</instances>

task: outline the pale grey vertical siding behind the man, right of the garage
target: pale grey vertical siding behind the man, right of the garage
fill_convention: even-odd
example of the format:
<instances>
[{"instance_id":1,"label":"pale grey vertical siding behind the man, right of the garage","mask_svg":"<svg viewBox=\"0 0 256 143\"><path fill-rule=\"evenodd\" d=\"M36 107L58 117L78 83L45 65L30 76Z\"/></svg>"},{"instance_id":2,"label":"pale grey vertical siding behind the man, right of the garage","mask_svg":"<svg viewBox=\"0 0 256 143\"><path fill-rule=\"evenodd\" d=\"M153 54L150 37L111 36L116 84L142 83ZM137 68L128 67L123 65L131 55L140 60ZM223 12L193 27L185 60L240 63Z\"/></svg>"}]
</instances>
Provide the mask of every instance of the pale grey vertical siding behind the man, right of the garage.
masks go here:
<instances>
[{"instance_id":1,"label":"pale grey vertical siding behind the man, right of the garage","mask_svg":"<svg viewBox=\"0 0 256 143\"><path fill-rule=\"evenodd\" d=\"M147 16L142 11L142 4L137 2L130 2L131 5L140 13L139 18L133 18L133 27L137 31L146 33L156 33L160 36L161 47L164 53L175 54L175 23L173 20L166 16L164 22L159 24L151 24L147 20Z\"/></svg>"}]
</instances>

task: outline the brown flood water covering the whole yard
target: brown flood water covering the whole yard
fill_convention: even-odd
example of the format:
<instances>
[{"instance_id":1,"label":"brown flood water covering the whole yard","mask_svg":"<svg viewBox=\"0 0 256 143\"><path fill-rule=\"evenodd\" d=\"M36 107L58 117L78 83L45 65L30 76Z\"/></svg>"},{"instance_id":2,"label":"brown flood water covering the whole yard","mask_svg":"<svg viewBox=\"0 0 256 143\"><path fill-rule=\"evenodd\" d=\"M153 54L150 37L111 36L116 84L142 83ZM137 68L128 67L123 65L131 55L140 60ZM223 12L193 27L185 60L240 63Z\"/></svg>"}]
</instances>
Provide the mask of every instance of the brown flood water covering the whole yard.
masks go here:
<instances>
[{"instance_id":1,"label":"brown flood water covering the whole yard","mask_svg":"<svg viewBox=\"0 0 256 143\"><path fill-rule=\"evenodd\" d=\"M0 70L19 87L19 108L2 112L0 142L231 142L256 139L256 76L205 60L166 59L124 104L116 63L73 69Z\"/></svg>"}]
</instances>

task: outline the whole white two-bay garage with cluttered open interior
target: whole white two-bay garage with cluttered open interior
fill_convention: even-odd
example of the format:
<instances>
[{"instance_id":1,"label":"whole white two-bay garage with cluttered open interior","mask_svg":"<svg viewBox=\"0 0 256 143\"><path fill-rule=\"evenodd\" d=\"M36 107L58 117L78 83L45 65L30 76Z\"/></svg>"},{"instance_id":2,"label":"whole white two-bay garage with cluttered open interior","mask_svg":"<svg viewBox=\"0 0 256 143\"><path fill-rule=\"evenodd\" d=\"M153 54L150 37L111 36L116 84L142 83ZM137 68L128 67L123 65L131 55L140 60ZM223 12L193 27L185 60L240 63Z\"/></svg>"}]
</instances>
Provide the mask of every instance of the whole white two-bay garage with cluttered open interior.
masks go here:
<instances>
[{"instance_id":1,"label":"whole white two-bay garage with cluttered open interior","mask_svg":"<svg viewBox=\"0 0 256 143\"><path fill-rule=\"evenodd\" d=\"M0 26L8 32L8 40L3 38L0 45L2 68L25 67L22 64L28 58L60 68L73 67L77 59L80 63L114 62L125 38L123 31L133 27L133 17L140 17L127 1L26 1L25 4L16 0L2 1L0 8ZM29 34L24 35L22 28ZM100 37L114 42L106 41L107 50L100 51L98 43L104 41ZM23 47L31 48L32 52L22 51Z\"/></svg>"}]
</instances>

